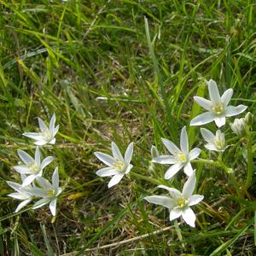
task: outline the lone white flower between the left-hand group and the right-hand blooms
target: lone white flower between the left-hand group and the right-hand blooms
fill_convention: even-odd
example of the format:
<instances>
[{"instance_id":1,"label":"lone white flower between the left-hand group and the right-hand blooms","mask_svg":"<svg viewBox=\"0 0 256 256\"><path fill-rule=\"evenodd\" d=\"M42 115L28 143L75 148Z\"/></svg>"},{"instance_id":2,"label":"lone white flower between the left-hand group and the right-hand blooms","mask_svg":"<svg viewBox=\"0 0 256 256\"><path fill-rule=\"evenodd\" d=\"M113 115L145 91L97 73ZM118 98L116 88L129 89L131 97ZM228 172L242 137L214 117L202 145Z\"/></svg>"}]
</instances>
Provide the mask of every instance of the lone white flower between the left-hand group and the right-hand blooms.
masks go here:
<instances>
[{"instance_id":1,"label":"lone white flower between the left-hand group and the right-hand blooms","mask_svg":"<svg viewBox=\"0 0 256 256\"><path fill-rule=\"evenodd\" d=\"M131 171L132 165L131 156L133 153L133 143L130 143L125 151L125 158L120 153L119 147L116 143L111 143L113 156L104 154L102 152L95 152L96 157L101 160L108 167L102 168L96 172L96 175L100 177L113 176L108 183L108 188L113 187L119 183L122 177Z\"/></svg>"}]
</instances>

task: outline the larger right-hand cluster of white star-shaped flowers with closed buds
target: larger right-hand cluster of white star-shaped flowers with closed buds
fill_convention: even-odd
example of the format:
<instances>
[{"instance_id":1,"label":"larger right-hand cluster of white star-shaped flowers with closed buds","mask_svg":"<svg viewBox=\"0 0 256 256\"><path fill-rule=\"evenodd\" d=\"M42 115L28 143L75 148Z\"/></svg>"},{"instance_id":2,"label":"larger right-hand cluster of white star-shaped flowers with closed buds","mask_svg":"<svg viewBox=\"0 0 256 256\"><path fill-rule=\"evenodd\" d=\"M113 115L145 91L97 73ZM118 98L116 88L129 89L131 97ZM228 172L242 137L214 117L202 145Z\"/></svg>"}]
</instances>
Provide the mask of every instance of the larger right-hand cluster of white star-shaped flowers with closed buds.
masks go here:
<instances>
[{"instance_id":1,"label":"larger right-hand cluster of white star-shaped flowers with closed buds","mask_svg":"<svg viewBox=\"0 0 256 256\"><path fill-rule=\"evenodd\" d=\"M226 117L231 117L239 113L244 112L247 107L239 105L237 107L229 106L233 90L225 90L222 96L219 95L217 84L210 79L207 82L210 100L195 96L195 102L197 102L202 108L207 110L207 113L201 113L190 121L190 125L205 125L212 121L218 127L225 125ZM249 119L249 118L247 118ZM231 124L231 129L238 135L243 136L246 132L246 124L244 119L236 119L234 124ZM205 128L201 128L201 136L207 142L205 147L208 150L217 151L223 153L228 147L225 144L224 133L217 130L215 135L212 131ZM192 166L192 161L198 158L201 154L200 148L193 148L189 150L189 138L186 130L186 126L183 127L180 136L180 148L177 147L172 141L161 138L162 143L170 154L160 155L157 148L152 146L151 154L153 157L152 163L158 163L163 165L171 165L164 177L170 179L176 175L180 170L187 175L188 179L183 185L182 192L175 188L167 187L166 185L159 185L158 188L166 189L169 192L169 196L166 195L150 195L144 197L144 199L150 203L166 207L170 211L170 220L183 217L183 220L191 227L195 227L195 213L190 208L201 202L204 198L203 195L193 195L195 190L195 169ZM113 176L108 183L108 188L119 183L125 174L131 171L131 156L133 152L133 143L130 143L125 152L125 158L119 151L118 146L112 143L113 156L96 152L96 157L101 160L108 167L102 168L96 172L100 177ZM138 177L138 176L137 176Z\"/></svg>"}]
</instances>

